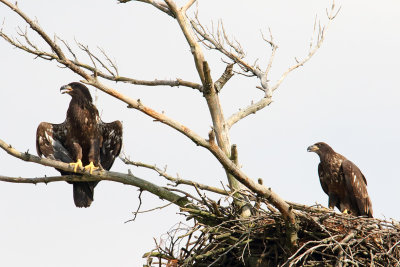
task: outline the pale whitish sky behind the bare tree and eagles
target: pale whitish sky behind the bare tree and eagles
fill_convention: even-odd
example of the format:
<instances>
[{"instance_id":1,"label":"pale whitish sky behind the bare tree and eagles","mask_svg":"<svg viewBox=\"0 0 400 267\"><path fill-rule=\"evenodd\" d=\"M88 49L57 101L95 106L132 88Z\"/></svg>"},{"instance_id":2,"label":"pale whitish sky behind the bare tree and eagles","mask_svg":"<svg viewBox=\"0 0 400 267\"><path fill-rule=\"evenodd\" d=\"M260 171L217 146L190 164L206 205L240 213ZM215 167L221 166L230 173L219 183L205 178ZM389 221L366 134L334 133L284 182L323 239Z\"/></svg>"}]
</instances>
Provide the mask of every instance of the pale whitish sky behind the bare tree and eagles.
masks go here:
<instances>
[{"instance_id":1,"label":"pale whitish sky behind the bare tree and eagles","mask_svg":"<svg viewBox=\"0 0 400 267\"><path fill-rule=\"evenodd\" d=\"M100 3L101 2L101 3ZM193 59L178 24L154 7L115 1L18 1L49 34L71 45L74 38L115 58L120 75L137 79L198 82ZM243 170L284 199L327 205L317 176L318 157L307 146L325 141L357 164L368 181L374 215L400 218L400 2L344 1L326 40L304 67L291 73L275 91L274 102L231 130ZM308 51L315 15L324 24L330 1L200 1L205 25L218 19L240 41L247 60L265 68L270 49L260 30L271 28L279 49L270 78L276 80ZM192 14L194 9L189 10ZM25 24L0 5L6 33L16 36ZM38 40L33 32L32 39ZM46 47L37 41L41 47ZM46 47L47 49L47 47ZM225 65L205 51L214 80ZM89 60L81 54L81 60ZM36 154L35 133L41 121L60 123L70 97L59 88L80 77L55 62L33 59L0 40L0 138L20 151ZM206 102L189 88L129 86L106 82L121 93L165 113L206 137L212 122ZM220 94L228 117L262 97L256 78L234 76ZM96 92L90 89L92 95ZM125 152L133 160L168 165L168 173L219 186L224 171L203 148L183 135L98 91L104 121L122 120ZM116 161L112 170L128 168L156 184L165 181L150 171ZM0 174L22 177L58 175L52 168L26 163L0 151ZM135 187L101 182L88 209L73 204L72 186L0 183L0 266L141 266L143 253L175 222L178 209L132 218L138 201ZM143 193L142 209L166 204Z\"/></svg>"}]
</instances>

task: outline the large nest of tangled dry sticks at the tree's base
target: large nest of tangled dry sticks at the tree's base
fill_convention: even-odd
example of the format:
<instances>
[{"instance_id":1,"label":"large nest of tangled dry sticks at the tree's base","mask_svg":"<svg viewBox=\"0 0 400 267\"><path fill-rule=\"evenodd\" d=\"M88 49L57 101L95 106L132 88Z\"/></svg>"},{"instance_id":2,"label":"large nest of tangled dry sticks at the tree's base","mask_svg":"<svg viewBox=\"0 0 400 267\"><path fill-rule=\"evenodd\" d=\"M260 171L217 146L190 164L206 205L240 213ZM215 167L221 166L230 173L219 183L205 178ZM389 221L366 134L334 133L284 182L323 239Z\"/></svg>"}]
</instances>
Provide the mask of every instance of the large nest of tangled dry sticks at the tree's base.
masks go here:
<instances>
[{"instance_id":1,"label":"large nest of tangled dry sticks at the tree's base","mask_svg":"<svg viewBox=\"0 0 400 267\"><path fill-rule=\"evenodd\" d=\"M209 205L203 213L184 209L195 224L175 225L144 255L147 266L400 266L398 222L290 204L299 224L295 248L287 244L281 214L268 204L246 219Z\"/></svg>"}]
</instances>

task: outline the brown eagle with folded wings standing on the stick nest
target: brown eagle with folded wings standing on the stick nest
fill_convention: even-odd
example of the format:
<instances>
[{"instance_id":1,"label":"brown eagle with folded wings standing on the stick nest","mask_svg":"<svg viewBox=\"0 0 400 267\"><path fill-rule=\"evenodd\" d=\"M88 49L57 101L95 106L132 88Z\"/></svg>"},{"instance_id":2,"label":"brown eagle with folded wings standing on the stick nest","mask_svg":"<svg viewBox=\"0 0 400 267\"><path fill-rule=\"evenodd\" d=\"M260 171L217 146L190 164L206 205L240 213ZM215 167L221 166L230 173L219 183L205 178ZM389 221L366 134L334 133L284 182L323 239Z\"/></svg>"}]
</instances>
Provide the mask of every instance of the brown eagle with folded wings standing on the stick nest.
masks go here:
<instances>
[{"instance_id":1,"label":"brown eagle with folded wings standing on the stick nest","mask_svg":"<svg viewBox=\"0 0 400 267\"><path fill-rule=\"evenodd\" d=\"M321 160L318 175L322 189L329 196L329 208L372 218L367 180L360 169L326 143L316 143L307 151L317 153Z\"/></svg>"}]
</instances>

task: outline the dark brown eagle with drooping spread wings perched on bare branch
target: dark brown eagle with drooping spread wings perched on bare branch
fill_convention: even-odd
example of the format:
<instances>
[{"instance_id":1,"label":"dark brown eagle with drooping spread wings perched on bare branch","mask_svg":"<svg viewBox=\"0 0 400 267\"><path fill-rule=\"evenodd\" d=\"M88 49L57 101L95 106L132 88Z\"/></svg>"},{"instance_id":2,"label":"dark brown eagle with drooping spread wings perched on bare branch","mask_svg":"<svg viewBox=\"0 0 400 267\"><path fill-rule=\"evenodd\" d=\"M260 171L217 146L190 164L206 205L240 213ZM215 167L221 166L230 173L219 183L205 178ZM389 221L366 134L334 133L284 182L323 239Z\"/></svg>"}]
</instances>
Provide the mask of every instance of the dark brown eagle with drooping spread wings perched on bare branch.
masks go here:
<instances>
[{"instance_id":1,"label":"dark brown eagle with drooping spread wings perched on bare branch","mask_svg":"<svg viewBox=\"0 0 400 267\"><path fill-rule=\"evenodd\" d=\"M64 85L62 94L69 94L67 117L63 123L41 122L36 131L36 150L39 156L60 160L84 169L90 174L96 169L109 170L122 146L120 121L104 123L92 102L88 88L78 82ZM85 166L85 167L83 167ZM58 170L58 169L57 169ZM61 175L73 174L58 170ZM98 182L71 182L74 202L79 208L89 207Z\"/></svg>"}]
</instances>

